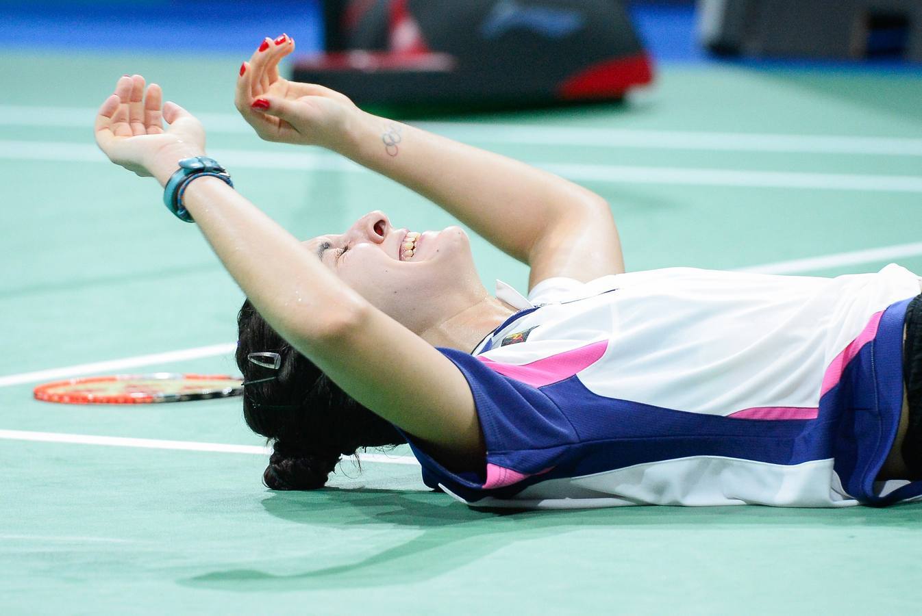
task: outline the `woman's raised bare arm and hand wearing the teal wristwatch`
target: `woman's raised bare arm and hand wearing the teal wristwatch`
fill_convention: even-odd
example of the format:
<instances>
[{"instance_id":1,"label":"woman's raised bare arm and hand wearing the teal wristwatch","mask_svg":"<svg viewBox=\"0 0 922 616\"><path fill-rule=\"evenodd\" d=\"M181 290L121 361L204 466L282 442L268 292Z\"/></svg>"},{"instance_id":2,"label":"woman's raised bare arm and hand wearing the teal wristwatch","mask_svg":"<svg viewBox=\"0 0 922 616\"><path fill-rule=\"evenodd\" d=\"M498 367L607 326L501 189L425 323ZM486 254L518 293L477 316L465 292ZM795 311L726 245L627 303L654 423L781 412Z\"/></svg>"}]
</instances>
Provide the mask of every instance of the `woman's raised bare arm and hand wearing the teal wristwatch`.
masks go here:
<instances>
[{"instance_id":1,"label":"woman's raised bare arm and hand wearing the teal wristwatch","mask_svg":"<svg viewBox=\"0 0 922 616\"><path fill-rule=\"evenodd\" d=\"M145 97L143 77L122 77L100 107L97 143L112 162L166 185L180 159L205 154L205 131L174 103L162 119L166 131L160 87ZM365 301L223 180L191 181L183 205L269 325L339 387L447 459L482 460L473 396L443 354Z\"/></svg>"}]
</instances>

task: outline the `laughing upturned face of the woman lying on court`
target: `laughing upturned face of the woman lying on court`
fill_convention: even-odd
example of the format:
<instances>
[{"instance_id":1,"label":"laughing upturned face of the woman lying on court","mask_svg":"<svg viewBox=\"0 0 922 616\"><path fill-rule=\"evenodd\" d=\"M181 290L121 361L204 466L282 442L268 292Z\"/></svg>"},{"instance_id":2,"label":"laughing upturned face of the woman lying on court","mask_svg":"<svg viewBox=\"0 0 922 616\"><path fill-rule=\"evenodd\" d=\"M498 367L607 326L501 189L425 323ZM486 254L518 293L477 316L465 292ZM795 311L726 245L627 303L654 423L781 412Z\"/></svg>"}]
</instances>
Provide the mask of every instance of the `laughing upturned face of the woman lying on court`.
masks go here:
<instances>
[{"instance_id":1,"label":"laughing upturned face of the woman lying on court","mask_svg":"<svg viewBox=\"0 0 922 616\"><path fill-rule=\"evenodd\" d=\"M487 295L460 227L411 231L382 212L342 235L304 242L326 267L373 306L421 333Z\"/></svg>"}]
</instances>

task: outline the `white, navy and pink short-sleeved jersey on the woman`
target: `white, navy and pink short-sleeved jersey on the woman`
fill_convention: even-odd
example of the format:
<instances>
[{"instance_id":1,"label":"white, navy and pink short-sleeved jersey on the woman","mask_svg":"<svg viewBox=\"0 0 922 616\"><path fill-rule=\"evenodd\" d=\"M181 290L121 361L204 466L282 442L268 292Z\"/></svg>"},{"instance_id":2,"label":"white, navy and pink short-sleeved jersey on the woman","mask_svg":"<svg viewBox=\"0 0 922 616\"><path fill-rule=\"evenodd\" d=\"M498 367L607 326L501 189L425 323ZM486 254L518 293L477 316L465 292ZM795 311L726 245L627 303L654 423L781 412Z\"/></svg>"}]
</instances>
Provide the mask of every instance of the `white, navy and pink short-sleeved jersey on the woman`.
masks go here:
<instances>
[{"instance_id":1,"label":"white, navy and pink short-sleeved jersey on the woman","mask_svg":"<svg viewBox=\"0 0 922 616\"><path fill-rule=\"evenodd\" d=\"M903 401L918 277L672 268L551 278L472 354L486 468L431 487L471 506L850 506L916 498L875 482Z\"/></svg>"}]
</instances>

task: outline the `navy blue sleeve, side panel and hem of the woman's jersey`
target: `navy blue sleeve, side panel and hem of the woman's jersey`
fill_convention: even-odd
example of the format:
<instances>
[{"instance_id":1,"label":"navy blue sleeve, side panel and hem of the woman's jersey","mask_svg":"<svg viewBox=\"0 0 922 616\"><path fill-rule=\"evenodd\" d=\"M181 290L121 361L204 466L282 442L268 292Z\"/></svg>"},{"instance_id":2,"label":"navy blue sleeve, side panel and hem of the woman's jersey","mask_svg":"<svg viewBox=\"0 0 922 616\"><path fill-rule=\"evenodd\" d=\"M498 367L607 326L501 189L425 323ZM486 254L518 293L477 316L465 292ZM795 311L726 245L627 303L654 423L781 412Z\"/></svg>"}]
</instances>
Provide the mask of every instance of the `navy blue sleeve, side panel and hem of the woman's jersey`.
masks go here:
<instances>
[{"instance_id":1,"label":"navy blue sleeve, side panel and hem of the woman's jersey","mask_svg":"<svg viewBox=\"0 0 922 616\"><path fill-rule=\"evenodd\" d=\"M432 459L412 436L408 441L427 485L443 484L468 503L485 496L514 498L548 480L695 457L786 466L833 459L848 494L871 505L891 503L922 493L922 482L883 497L874 490L902 407L908 303L894 303L883 312L876 336L822 396L815 419L765 420L661 408L599 395L575 375L529 385L476 356L440 348L470 385L487 459L481 468L455 473ZM514 481L495 481L497 467Z\"/></svg>"}]
</instances>

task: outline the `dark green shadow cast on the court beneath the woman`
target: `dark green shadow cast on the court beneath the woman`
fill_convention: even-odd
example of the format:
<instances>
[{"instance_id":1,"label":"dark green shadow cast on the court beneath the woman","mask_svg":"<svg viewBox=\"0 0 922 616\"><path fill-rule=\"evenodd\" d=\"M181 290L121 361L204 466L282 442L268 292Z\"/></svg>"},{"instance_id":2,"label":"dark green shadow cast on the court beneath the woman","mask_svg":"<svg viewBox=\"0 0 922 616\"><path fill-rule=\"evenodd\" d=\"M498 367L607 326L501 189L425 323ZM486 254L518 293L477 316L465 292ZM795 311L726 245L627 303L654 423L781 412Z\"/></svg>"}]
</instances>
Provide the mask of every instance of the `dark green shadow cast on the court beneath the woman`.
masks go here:
<instances>
[{"instance_id":1,"label":"dark green shadow cast on the court beneath the woman","mask_svg":"<svg viewBox=\"0 0 922 616\"><path fill-rule=\"evenodd\" d=\"M313 493L276 493L262 502L266 512L289 522L335 532L344 527L386 532L415 529L420 533L349 564L312 564L311 546L304 546L303 566L280 573L229 569L179 580L189 587L251 592L387 587L431 580L475 563L514 543L560 539L577 531L600 531L613 552L632 541L631 529L662 527L663 533L739 533L748 527L786 529L906 529L916 526L922 505L889 509L783 509L763 506L640 506L570 511L482 511L456 503L443 494L395 490L326 488ZM284 540L282 540L284 541ZM370 541L371 542L371 541ZM559 544L564 547L565 544ZM354 549L350 545L349 551ZM318 559L320 560L320 559Z\"/></svg>"}]
</instances>

